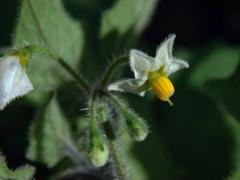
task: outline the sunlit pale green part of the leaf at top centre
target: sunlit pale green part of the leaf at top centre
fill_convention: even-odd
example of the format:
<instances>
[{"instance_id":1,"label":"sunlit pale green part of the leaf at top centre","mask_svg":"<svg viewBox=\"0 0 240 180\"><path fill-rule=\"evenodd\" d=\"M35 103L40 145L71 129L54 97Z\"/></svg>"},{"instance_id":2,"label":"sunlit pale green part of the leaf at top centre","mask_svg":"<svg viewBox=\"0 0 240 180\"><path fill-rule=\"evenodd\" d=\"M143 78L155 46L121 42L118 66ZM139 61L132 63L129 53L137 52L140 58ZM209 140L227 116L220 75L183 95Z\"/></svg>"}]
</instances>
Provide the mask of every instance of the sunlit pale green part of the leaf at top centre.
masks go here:
<instances>
[{"instance_id":1,"label":"sunlit pale green part of the leaf at top centre","mask_svg":"<svg viewBox=\"0 0 240 180\"><path fill-rule=\"evenodd\" d=\"M103 14L101 35L117 30L125 34L131 28L140 33L151 17L157 0L118 0L114 7Z\"/></svg>"}]
</instances>

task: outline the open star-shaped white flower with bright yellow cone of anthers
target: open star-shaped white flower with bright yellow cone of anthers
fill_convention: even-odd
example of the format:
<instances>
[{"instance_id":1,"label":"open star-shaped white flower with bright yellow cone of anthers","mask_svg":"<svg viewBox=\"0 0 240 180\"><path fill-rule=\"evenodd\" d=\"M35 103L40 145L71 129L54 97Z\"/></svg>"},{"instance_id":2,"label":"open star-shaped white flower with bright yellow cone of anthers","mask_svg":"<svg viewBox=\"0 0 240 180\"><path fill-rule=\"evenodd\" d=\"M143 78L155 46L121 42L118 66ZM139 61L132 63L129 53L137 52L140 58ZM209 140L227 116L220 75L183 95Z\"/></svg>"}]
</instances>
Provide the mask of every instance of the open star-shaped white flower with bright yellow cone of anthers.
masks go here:
<instances>
[{"instance_id":1,"label":"open star-shaped white flower with bright yellow cone of anthers","mask_svg":"<svg viewBox=\"0 0 240 180\"><path fill-rule=\"evenodd\" d=\"M170 96L174 93L174 86L168 76L182 68L188 68L186 61L173 57L173 43L175 34L170 35L158 48L155 57L136 50L130 50L130 67L134 72L134 79L126 79L112 83L109 91L131 92L143 95L152 89L162 100L170 104Z\"/></svg>"}]
</instances>

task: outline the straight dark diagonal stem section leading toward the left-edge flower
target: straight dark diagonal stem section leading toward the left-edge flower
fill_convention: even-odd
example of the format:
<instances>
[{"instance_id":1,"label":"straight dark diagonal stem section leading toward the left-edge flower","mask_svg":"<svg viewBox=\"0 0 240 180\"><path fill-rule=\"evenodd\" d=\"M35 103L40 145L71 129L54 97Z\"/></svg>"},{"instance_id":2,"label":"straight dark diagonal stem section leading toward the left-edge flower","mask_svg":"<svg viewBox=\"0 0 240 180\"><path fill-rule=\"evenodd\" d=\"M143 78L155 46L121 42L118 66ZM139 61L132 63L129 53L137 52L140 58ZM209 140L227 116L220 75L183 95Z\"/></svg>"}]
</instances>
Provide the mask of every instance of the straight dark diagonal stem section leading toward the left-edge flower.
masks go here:
<instances>
[{"instance_id":1,"label":"straight dark diagonal stem section leading toward the left-edge flower","mask_svg":"<svg viewBox=\"0 0 240 180\"><path fill-rule=\"evenodd\" d=\"M62 58L59 57L57 62L77 81L77 83L83 88L84 92L89 95L91 88L87 82Z\"/></svg>"}]
</instances>

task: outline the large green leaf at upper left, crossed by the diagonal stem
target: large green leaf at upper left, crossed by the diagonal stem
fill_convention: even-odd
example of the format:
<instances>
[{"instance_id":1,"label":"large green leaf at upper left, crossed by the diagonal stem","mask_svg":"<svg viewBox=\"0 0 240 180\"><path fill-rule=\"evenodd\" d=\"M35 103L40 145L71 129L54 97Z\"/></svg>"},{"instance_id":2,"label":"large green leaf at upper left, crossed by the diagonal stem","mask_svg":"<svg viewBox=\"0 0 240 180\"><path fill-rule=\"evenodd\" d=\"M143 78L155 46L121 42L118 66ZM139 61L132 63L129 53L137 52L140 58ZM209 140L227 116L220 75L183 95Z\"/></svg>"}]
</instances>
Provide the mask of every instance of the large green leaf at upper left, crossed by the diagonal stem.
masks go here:
<instances>
[{"instance_id":1,"label":"large green leaf at upper left, crossed by the diagonal stem","mask_svg":"<svg viewBox=\"0 0 240 180\"><path fill-rule=\"evenodd\" d=\"M79 23L60 0L23 0L13 46L44 45L75 67L83 46ZM28 74L35 88L49 91L66 79L65 71L44 53L33 55Z\"/></svg>"}]
</instances>

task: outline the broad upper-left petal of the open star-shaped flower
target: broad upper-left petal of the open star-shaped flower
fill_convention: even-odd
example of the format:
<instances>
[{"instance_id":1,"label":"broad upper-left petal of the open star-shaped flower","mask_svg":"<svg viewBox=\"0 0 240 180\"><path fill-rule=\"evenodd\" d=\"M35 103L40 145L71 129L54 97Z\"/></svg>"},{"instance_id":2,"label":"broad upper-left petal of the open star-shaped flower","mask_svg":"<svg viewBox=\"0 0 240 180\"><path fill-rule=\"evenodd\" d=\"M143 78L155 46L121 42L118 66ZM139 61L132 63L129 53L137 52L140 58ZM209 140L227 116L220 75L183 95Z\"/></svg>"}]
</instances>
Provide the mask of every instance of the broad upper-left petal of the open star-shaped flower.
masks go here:
<instances>
[{"instance_id":1,"label":"broad upper-left petal of the open star-shaped flower","mask_svg":"<svg viewBox=\"0 0 240 180\"><path fill-rule=\"evenodd\" d=\"M155 66L154 58L136 49L131 49L129 56L130 67L134 72L135 78L146 80L147 73L152 71Z\"/></svg>"}]
</instances>

